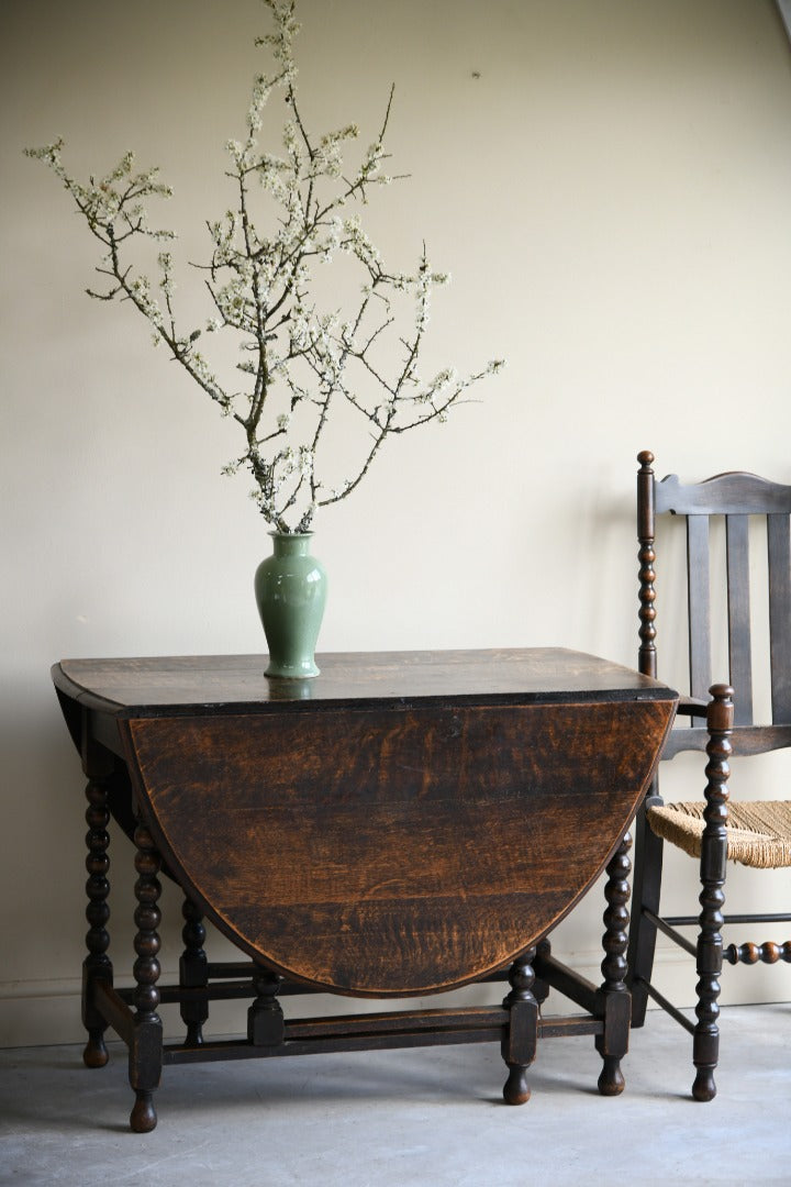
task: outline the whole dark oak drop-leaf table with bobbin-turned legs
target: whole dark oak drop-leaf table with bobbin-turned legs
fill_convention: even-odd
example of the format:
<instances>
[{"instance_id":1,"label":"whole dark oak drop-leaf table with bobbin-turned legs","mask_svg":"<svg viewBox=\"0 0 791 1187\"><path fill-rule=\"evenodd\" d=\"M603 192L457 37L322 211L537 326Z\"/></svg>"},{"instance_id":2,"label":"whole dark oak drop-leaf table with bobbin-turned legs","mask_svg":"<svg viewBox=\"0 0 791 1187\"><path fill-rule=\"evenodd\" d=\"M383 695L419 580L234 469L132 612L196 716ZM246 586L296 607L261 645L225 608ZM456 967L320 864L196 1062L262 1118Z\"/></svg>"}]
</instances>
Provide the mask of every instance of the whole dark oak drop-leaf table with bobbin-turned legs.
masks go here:
<instances>
[{"instance_id":1,"label":"whole dark oak drop-leaf table with bobbin-turned legs","mask_svg":"<svg viewBox=\"0 0 791 1187\"><path fill-rule=\"evenodd\" d=\"M528 1099L540 1037L592 1034L624 1086L626 832L676 693L576 652L64 660L52 678L88 777L84 1060L129 1049L132 1128L157 1124L164 1064L498 1041ZM110 817L135 848L133 989L108 957ZM548 934L606 869L602 982ZM160 986L160 872L184 891L179 983ZM211 963L204 920L244 959ZM286 1018L279 998L397 998L508 977L502 1005ZM578 1008L541 1016L555 988ZM247 998L244 1040L204 1040L209 1002ZM177 1002L180 1042L162 1041Z\"/></svg>"}]
</instances>

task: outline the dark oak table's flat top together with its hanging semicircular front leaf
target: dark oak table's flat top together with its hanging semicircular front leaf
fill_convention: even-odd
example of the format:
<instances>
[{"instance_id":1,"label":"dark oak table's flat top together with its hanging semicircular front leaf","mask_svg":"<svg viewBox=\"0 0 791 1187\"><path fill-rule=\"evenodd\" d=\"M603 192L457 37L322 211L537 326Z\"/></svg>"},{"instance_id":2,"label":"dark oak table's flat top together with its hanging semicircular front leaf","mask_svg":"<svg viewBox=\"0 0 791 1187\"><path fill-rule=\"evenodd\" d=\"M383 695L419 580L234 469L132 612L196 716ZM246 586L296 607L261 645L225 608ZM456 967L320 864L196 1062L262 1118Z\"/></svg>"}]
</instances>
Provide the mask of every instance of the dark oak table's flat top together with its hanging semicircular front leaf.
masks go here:
<instances>
[{"instance_id":1,"label":"dark oak table's flat top together with its hanging semicircular front leaf","mask_svg":"<svg viewBox=\"0 0 791 1187\"><path fill-rule=\"evenodd\" d=\"M166 868L266 967L337 992L446 990L547 934L605 868L676 696L562 648L65 660ZM117 812L110 787L109 805Z\"/></svg>"}]
</instances>

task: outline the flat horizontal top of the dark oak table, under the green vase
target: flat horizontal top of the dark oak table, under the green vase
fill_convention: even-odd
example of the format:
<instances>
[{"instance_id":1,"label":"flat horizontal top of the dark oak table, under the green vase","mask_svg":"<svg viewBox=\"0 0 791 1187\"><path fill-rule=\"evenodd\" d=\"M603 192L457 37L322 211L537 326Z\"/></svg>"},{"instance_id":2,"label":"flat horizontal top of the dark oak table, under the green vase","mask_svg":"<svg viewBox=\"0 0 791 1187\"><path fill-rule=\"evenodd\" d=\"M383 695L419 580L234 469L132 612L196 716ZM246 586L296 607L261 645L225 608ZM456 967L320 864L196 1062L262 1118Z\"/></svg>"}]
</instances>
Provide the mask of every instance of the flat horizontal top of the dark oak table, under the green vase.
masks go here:
<instances>
[{"instance_id":1,"label":"flat horizontal top of the dark oak table, under the green vase","mask_svg":"<svg viewBox=\"0 0 791 1187\"><path fill-rule=\"evenodd\" d=\"M72 659L52 668L56 687L116 717L272 707L370 707L432 703L530 704L666 699L668 687L632 668L566 648L334 653L321 674L264 677L263 655Z\"/></svg>"}]
</instances>

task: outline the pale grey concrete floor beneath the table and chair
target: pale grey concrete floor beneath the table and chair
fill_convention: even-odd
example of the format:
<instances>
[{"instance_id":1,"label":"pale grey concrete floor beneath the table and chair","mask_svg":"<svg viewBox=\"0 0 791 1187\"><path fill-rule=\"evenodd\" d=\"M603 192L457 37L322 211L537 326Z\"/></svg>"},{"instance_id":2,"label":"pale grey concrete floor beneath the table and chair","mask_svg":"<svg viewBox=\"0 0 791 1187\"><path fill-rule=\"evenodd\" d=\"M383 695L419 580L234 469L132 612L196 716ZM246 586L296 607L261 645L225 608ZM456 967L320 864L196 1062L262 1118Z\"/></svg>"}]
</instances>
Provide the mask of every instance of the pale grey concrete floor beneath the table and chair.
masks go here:
<instances>
[{"instance_id":1,"label":"pale grey concrete floor beneath the table and chair","mask_svg":"<svg viewBox=\"0 0 791 1187\"><path fill-rule=\"evenodd\" d=\"M126 1052L0 1052L0 1182L192 1187L791 1183L791 1005L722 1011L719 1094L689 1098L691 1041L632 1033L626 1091L589 1037L540 1046L532 1097L499 1103L495 1045L165 1068L153 1134L127 1126Z\"/></svg>"}]
</instances>

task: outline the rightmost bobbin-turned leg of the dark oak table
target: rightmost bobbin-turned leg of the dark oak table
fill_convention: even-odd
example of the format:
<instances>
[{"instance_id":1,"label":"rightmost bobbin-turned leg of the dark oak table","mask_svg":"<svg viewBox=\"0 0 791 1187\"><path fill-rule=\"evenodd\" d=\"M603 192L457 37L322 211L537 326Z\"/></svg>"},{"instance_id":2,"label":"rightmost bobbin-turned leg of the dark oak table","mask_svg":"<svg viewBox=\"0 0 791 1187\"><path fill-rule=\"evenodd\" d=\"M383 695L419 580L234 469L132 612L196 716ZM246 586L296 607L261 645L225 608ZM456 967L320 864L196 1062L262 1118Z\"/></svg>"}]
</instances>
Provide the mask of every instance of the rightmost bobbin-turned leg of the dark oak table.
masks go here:
<instances>
[{"instance_id":1,"label":"rightmost bobbin-turned leg of the dark oak table","mask_svg":"<svg viewBox=\"0 0 791 1187\"><path fill-rule=\"evenodd\" d=\"M605 933L601 942L605 958L601 961L604 982L598 994L597 1014L604 1017L604 1033L597 1035L597 1050L604 1060L599 1077L599 1092L604 1097L617 1097L624 1091L620 1061L629 1050L629 1028L632 999L626 989L626 948L629 946L629 875L631 862L629 851L632 838L629 833L615 850L607 865L604 913Z\"/></svg>"}]
</instances>

